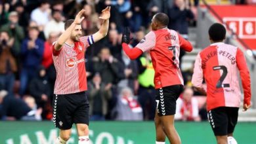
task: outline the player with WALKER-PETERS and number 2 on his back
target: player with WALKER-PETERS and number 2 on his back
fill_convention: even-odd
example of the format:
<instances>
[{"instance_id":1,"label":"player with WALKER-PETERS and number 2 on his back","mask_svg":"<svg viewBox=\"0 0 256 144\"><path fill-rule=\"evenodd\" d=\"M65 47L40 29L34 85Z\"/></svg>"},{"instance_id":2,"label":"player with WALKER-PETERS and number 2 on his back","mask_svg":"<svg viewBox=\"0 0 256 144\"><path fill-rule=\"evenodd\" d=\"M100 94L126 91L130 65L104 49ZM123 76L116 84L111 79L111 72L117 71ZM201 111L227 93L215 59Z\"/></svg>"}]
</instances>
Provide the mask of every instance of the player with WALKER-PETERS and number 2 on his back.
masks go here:
<instances>
[{"instance_id":1,"label":"player with WALKER-PETERS and number 2 on his back","mask_svg":"<svg viewBox=\"0 0 256 144\"><path fill-rule=\"evenodd\" d=\"M229 144L228 139L234 141L232 136L241 102L238 70L244 88L244 111L251 106L249 70L243 52L236 46L223 43L226 29L222 24L213 24L208 33L211 45L196 58L192 84L207 96L207 116L217 143ZM206 90L202 86L203 78Z\"/></svg>"}]
</instances>

